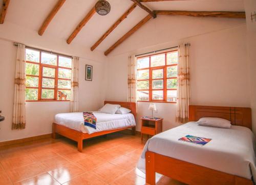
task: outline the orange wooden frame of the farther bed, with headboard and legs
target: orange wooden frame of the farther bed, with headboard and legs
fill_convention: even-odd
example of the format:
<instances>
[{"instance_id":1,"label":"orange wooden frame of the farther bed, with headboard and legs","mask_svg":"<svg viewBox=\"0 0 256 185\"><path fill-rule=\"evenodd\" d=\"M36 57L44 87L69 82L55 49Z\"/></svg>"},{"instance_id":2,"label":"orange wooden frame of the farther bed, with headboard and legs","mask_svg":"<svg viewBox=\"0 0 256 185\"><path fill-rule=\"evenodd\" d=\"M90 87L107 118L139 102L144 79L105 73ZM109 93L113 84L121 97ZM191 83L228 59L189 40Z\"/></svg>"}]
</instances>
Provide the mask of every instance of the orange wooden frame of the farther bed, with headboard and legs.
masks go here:
<instances>
[{"instance_id":1,"label":"orange wooden frame of the farther bed, with headboard and legs","mask_svg":"<svg viewBox=\"0 0 256 185\"><path fill-rule=\"evenodd\" d=\"M127 108L131 110L131 113L134 115L134 118L136 118L136 103L135 102L122 102L122 101L104 101L104 104L110 103L110 104L120 104L121 107ZM82 152L82 141L84 139L88 138L94 138L97 136L102 136L110 133L115 133L116 131L124 130L132 128L132 134L135 135L135 128L136 126L126 126L122 128L116 128L112 130L103 130L96 133L88 134L88 133L82 133L81 131L69 128L64 125L60 125L58 123L52 124L52 138L56 138L56 134L59 134L61 136L64 136L66 138L72 139L74 141L77 141L77 148L78 151Z\"/></svg>"}]
</instances>

